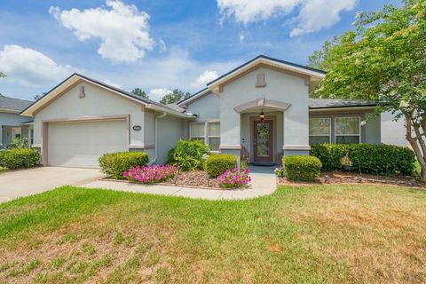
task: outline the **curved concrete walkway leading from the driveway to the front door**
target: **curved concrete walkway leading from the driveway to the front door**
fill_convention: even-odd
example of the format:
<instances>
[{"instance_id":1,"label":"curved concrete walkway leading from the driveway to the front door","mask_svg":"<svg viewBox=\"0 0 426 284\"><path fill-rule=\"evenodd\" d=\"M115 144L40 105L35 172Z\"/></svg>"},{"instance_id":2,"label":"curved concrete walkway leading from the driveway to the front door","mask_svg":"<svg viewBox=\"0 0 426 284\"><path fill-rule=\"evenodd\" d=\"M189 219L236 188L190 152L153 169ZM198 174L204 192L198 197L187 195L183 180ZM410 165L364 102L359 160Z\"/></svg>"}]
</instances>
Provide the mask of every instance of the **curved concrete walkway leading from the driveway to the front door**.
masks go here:
<instances>
[{"instance_id":1,"label":"curved concrete walkway leading from the driveway to the front door","mask_svg":"<svg viewBox=\"0 0 426 284\"><path fill-rule=\"evenodd\" d=\"M189 188L174 185L138 185L122 181L97 180L80 185L87 188L104 188L131 193L152 193L169 196L184 196L205 200L244 200L272 194L277 189L274 168L250 167L251 185L245 189L222 190Z\"/></svg>"}]
</instances>

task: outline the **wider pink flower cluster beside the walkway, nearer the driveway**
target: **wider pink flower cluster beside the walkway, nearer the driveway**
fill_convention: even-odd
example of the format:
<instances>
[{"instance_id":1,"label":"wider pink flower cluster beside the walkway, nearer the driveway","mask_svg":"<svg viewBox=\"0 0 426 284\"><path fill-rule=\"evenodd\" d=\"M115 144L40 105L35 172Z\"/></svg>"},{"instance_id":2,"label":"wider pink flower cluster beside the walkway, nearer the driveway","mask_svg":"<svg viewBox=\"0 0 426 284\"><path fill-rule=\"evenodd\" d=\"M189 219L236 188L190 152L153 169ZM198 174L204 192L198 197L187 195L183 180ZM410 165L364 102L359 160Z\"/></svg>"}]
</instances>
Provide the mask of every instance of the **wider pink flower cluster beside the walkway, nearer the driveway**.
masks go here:
<instances>
[{"instance_id":1,"label":"wider pink flower cluster beside the walkway, nearer the driveway","mask_svg":"<svg viewBox=\"0 0 426 284\"><path fill-rule=\"evenodd\" d=\"M122 173L122 177L127 177L132 182L142 184L155 184L175 177L177 167L171 165L131 167Z\"/></svg>"}]
</instances>

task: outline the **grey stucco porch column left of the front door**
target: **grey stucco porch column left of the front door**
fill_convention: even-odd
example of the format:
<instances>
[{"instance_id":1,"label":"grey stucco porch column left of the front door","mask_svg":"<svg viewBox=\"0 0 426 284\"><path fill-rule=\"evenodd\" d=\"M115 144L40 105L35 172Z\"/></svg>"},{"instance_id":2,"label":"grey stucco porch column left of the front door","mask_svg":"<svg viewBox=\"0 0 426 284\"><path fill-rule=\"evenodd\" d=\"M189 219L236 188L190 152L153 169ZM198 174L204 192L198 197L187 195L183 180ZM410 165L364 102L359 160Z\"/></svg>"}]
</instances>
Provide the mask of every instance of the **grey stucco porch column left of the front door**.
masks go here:
<instances>
[{"instance_id":1,"label":"grey stucco porch column left of the front door","mask_svg":"<svg viewBox=\"0 0 426 284\"><path fill-rule=\"evenodd\" d=\"M229 106L220 109L220 152L237 156L240 167L241 158L241 114Z\"/></svg>"}]
</instances>

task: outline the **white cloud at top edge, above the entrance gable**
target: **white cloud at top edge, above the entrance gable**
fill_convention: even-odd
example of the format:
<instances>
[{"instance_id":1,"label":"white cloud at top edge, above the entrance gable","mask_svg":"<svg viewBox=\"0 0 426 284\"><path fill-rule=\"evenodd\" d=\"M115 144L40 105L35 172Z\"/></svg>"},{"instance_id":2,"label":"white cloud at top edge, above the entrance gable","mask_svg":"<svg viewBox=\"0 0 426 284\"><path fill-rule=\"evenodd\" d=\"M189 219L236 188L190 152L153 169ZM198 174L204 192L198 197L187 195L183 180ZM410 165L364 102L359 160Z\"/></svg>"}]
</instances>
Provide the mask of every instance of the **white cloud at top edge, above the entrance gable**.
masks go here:
<instances>
[{"instance_id":1,"label":"white cloud at top edge, above the entrance gable","mask_svg":"<svg viewBox=\"0 0 426 284\"><path fill-rule=\"evenodd\" d=\"M242 24L288 16L299 9L290 36L329 28L340 20L340 12L351 11L357 3L358 0L217 0L224 17L234 17Z\"/></svg>"}]
</instances>

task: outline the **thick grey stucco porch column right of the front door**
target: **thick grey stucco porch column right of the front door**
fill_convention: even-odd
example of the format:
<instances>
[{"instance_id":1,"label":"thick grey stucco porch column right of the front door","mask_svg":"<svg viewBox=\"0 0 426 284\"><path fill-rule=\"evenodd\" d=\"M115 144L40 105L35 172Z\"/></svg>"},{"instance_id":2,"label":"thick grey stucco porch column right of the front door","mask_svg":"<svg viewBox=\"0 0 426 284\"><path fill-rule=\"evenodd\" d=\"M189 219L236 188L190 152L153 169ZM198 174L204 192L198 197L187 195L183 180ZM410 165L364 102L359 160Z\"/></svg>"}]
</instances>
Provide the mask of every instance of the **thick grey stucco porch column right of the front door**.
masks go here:
<instances>
[{"instance_id":1,"label":"thick grey stucco porch column right of the front door","mask_svg":"<svg viewBox=\"0 0 426 284\"><path fill-rule=\"evenodd\" d=\"M283 154L307 155L309 146L309 110L304 104L294 104L288 107L283 114Z\"/></svg>"}]
</instances>

